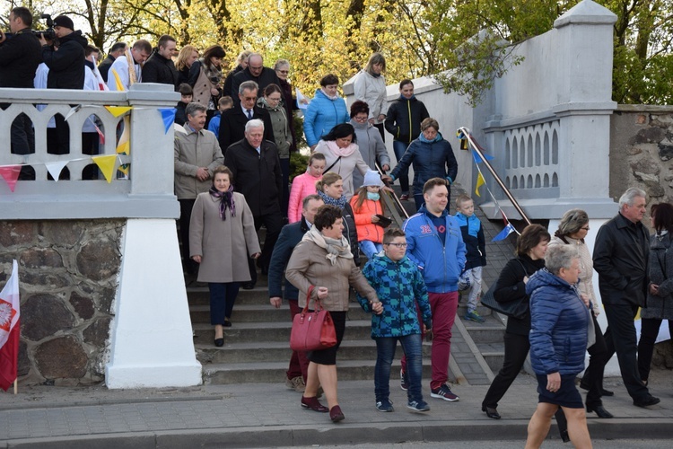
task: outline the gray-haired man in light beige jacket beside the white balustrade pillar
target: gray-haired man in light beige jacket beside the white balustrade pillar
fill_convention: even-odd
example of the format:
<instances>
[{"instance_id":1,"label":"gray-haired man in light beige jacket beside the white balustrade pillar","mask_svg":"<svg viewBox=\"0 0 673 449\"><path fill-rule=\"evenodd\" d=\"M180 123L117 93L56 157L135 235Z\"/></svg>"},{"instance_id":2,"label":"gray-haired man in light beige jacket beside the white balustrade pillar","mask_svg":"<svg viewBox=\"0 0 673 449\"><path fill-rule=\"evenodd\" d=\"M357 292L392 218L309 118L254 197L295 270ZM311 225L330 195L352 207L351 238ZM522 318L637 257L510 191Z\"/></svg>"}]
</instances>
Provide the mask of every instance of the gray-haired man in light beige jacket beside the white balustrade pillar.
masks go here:
<instances>
[{"instance_id":1,"label":"gray-haired man in light beige jacket beside the white balustrade pillar","mask_svg":"<svg viewBox=\"0 0 673 449\"><path fill-rule=\"evenodd\" d=\"M182 260L188 274L196 274L196 262L189 258L189 218L199 193L212 184L211 173L224 158L215 135L204 129L205 106L191 102L185 108L187 122L184 132L175 132L173 145L175 178L173 186L180 204L180 236Z\"/></svg>"}]
</instances>

